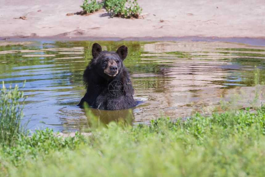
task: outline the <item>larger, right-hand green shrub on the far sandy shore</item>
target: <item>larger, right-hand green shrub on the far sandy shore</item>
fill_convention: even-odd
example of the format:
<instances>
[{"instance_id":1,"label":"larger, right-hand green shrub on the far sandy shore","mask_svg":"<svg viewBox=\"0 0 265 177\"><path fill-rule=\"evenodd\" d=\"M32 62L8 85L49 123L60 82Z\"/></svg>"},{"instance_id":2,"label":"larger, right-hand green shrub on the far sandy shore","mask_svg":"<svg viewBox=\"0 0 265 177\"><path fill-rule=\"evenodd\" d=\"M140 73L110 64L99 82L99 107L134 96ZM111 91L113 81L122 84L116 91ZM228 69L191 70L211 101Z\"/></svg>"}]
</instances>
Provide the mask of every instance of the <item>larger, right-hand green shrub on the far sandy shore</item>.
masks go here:
<instances>
[{"instance_id":1,"label":"larger, right-hand green shrub on the far sandy shore","mask_svg":"<svg viewBox=\"0 0 265 177\"><path fill-rule=\"evenodd\" d=\"M104 6L111 13L111 17L139 18L142 8L137 0L129 1L129 7L125 6L125 3L126 0L105 0Z\"/></svg>"}]
</instances>

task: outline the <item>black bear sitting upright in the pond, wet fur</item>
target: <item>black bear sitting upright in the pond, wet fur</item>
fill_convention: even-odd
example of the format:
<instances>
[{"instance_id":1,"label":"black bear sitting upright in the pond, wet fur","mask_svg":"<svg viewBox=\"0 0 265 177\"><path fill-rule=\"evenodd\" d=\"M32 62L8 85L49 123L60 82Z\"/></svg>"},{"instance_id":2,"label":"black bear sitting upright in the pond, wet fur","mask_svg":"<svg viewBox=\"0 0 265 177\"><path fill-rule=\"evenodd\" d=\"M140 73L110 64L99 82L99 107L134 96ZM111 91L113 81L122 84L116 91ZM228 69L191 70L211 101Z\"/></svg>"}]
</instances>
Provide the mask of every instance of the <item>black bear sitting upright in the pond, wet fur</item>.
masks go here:
<instances>
[{"instance_id":1,"label":"black bear sitting upright in the pond, wet fur","mask_svg":"<svg viewBox=\"0 0 265 177\"><path fill-rule=\"evenodd\" d=\"M93 59L84 70L86 93L78 106L116 110L136 106L130 76L123 65L128 48L122 45L116 52L103 50L100 44L92 46Z\"/></svg>"}]
</instances>

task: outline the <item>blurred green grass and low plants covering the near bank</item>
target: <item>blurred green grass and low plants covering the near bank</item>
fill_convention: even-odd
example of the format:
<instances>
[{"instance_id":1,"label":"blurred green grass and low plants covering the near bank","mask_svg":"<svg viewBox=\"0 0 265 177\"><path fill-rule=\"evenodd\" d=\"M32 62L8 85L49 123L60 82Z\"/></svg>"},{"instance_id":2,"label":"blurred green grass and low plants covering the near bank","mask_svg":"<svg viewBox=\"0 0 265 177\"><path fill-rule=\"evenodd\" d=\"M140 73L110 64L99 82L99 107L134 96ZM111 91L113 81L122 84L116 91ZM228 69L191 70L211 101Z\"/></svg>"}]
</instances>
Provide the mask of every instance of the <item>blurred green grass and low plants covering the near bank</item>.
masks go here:
<instances>
[{"instance_id":1,"label":"blurred green grass and low plants covering the near bank","mask_svg":"<svg viewBox=\"0 0 265 177\"><path fill-rule=\"evenodd\" d=\"M18 131L14 143L0 146L0 176L264 176L265 106L222 104L222 113L133 127L103 126L87 109L89 137Z\"/></svg>"}]
</instances>

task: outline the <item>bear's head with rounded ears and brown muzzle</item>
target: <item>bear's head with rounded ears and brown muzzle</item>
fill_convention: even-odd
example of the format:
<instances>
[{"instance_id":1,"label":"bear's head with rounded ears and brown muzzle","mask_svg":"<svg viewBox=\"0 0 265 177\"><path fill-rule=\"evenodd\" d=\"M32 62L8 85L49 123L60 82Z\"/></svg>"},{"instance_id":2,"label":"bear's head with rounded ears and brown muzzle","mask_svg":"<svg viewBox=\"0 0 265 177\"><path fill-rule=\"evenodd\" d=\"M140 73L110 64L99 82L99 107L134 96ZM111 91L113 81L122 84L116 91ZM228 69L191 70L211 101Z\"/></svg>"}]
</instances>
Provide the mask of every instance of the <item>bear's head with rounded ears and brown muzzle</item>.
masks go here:
<instances>
[{"instance_id":1,"label":"bear's head with rounded ears and brown muzzle","mask_svg":"<svg viewBox=\"0 0 265 177\"><path fill-rule=\"evenodd\" d=\"M123 61L127 57L128 48L120 46L116 52L103 50L98 43L92 46L92 56L99 74L107 79L119 75L123 70Z\"/></svg>"}]
</instances>

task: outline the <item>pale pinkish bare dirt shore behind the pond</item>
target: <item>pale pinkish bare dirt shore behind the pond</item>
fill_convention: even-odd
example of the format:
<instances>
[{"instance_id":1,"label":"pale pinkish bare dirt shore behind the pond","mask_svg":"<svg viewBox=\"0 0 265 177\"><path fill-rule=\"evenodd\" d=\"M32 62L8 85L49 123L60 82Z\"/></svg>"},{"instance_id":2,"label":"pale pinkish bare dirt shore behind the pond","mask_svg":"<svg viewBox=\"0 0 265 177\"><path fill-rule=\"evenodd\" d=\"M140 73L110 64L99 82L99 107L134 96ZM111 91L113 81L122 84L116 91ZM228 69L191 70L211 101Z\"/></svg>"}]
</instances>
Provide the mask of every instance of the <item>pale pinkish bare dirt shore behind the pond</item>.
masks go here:
<instances>
[{"instance_id":1,"label":"pale pinkish bare dirt shore behind the pond","mask_svg":"<svg viewBox=\"0 0 265 177\"><path fill-rule=\"evenodd\" d=\"M81 16L82 0L2 0L0 39L137 39L188 36L265 39L265 0L138 0L141 19ZM21 17L21 18L20 18ZM25 17L25 18L23 18Z\"/></svg>"}]
</instances>

